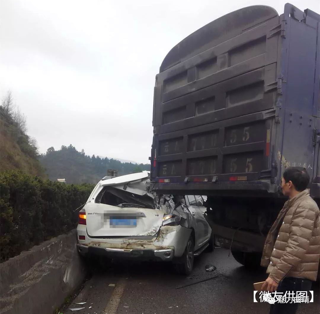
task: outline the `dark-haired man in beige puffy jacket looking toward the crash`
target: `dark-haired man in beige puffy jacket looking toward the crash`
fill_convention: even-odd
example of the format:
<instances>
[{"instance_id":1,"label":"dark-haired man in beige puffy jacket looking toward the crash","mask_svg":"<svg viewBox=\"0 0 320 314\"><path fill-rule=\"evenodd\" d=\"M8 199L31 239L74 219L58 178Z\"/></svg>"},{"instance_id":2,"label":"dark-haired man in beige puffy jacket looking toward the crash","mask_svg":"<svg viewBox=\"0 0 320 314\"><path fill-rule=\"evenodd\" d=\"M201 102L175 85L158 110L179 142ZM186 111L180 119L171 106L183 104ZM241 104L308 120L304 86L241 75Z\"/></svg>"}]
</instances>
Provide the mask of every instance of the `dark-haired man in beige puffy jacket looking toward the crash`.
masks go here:
<instances>
[{"instance_id":1,"label":"dark-haired man in beige puffy jacket looking toward the crash","mask_svg":"<svg viewBox=\"0 0 320 314\"><path fill-rule=\"evenodd\" d=\"M306 189L310 178L304 168L291 167L282 178L289 200L272 225L263 249L261 266L269 274L263 291L308 291L316 281L320 258L320 213ZM275 303L270 314L296 312L299 303Z\"/></svg>"}]
</instances>

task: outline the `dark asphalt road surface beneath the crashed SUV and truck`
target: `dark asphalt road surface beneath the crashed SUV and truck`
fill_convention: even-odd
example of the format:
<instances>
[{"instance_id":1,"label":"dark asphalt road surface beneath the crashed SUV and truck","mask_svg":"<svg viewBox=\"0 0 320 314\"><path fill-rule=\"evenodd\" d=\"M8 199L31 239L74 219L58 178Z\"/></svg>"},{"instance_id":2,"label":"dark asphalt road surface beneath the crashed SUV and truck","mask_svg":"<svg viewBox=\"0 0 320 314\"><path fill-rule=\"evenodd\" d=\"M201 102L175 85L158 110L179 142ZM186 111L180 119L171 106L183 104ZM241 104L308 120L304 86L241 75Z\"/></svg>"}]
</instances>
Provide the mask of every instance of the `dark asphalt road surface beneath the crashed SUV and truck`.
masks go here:
<instances>
[{"instance_id":1,"label":"dark asphalt road surface beneath the crashed SUV and truck","mask_svg":"<svg viewBox=\"0 0 320 314\"><path fill-rule=\"evenodd\" d=\"M253 302L253 282L266 279L265 271L245 270L228 250L216 248L195 259L192 275L176 275L169 263L116 262L91 266L88 279L60 312L77 314L194 314L269 313L268 303ZM217 267L206 272L205 265ZM211 280L189 285L200 280ZM319 283L313 285L314 302L300 304L299 314L320 313ZM75 302L86 302L83 305ZM85 307L71 311L70 308ZM91 308L89 308L91 307Z\"/></svg>"}]
</instances>

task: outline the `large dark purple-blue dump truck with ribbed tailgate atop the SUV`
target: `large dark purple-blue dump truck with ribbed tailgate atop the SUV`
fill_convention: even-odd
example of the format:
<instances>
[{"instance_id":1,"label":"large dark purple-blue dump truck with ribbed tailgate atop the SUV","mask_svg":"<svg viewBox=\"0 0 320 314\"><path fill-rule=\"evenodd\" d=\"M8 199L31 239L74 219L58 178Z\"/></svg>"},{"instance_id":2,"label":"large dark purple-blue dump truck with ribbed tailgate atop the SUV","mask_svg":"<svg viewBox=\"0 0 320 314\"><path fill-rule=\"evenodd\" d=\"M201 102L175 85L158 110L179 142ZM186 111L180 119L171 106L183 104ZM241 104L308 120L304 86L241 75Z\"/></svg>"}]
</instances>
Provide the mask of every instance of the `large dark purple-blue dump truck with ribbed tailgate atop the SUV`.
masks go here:
<instances>
[{"instance_id":1,"label":"large dark purple-blue dump truck with ribbed tailgate atop the SUV","mask_svg":"<svg viewBox=\"0 0 320 314\"><path fill-rule=\"evenodd\" d=\"M320 194L320 16L285 4L226 14L174 46L156 75L152 189L206 195L216 246L260 264L285 198L307 169Z\"/></svg>"}]
</instances>

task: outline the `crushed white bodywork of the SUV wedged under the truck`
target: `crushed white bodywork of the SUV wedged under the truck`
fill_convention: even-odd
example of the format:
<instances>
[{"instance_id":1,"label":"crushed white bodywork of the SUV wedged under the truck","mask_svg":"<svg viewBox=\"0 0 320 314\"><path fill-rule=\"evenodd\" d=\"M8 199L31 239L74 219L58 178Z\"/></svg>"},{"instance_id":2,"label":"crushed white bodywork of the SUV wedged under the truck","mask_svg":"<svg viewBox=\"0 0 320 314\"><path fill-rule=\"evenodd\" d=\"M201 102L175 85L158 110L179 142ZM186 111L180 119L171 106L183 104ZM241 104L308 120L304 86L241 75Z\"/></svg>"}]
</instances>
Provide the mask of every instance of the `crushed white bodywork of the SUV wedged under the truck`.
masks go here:
<instances>
[{"instance_id":1,"label":"crushed white bodywork of the SUV wedged under the truck","mask_svg":"<svg viewBox=\"0 0 320 314\"><path fill-rule=\"evenodd\" d=\"M193 206L201 205L194 197L192 204L190 197L150 193L148 172L122 177L101 180L82 209L86 224L77 227L80 254L172 261L182 256L191 235L195 251L210 240L206 209ZM166 215L178 222L164 225Z\"/></svg>"}]
</instances>

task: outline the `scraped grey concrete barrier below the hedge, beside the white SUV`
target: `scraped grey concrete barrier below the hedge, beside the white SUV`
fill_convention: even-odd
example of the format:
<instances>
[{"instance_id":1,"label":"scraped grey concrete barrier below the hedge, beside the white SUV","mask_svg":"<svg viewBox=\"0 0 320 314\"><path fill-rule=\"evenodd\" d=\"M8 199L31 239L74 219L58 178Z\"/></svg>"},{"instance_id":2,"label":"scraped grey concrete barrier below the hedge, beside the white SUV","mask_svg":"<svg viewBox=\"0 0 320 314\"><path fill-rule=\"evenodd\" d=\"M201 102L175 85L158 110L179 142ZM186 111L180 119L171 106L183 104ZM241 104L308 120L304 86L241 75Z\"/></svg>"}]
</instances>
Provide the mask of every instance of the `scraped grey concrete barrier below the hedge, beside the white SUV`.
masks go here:
<instances>
[{"instance_id":1,"label":"scraped grey concrete barrier below the hedge, beside the white SUV","mask_svg":"<svg viewBox=\"0 0 320 314\"><path fill-rule=\"evenodd\" d=\"M85 265L76 230L22 252L0 266L0 313L52 314L81 285Z\"/></svg>"}]
</instances>

